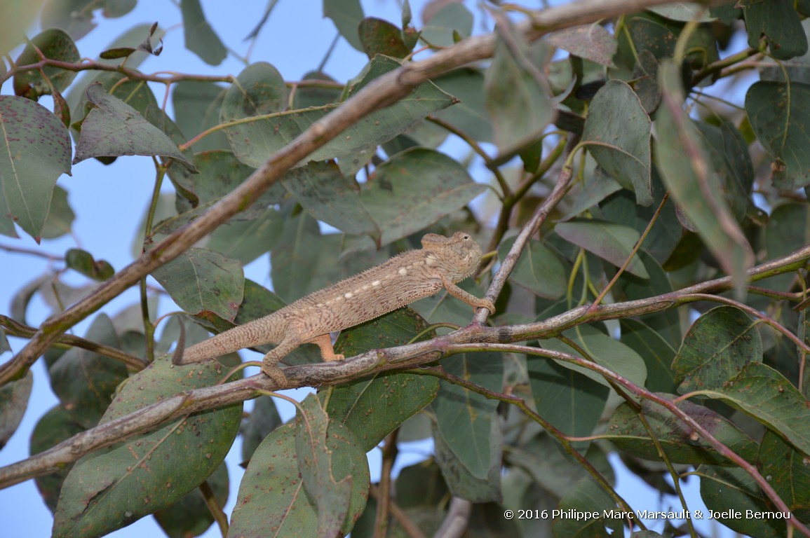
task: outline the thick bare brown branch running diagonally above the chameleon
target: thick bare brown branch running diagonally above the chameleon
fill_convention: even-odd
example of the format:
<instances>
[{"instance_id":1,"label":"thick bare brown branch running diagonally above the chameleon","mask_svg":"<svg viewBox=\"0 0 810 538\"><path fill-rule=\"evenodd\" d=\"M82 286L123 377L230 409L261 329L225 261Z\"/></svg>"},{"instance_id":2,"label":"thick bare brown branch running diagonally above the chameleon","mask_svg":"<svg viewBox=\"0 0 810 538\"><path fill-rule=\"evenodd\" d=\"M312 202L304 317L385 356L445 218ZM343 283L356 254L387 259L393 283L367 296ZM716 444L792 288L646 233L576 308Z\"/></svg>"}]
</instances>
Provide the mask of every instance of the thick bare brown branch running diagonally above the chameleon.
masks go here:
<instances>
[{"instance_id":1,"label":"thick bare brown branch running diagonally above the chameleon","mask_svg":"<svg viewBox=\"0 0 810 538\"><path fill-rule=\"evenodd\" d=\"M537 11L527 22L518 25L528 40L538 40L548 32L578 24L593 23L623 13L642 10L648 6L667 3L668 0L582 0ZM369 113L394 104L411 90L430 78L465 66L473 61L492 57L495 38L492 34L474 36L434 53L422 61L409 62L397 70L374 79L342 106L316 121L304 133L271 155L270 159L232 193L222 198L210 210L193 222L168 235L136 261L127 265L113 278L104 282L92 294L78 303L45 320L31 341L10 362L0 367L0 386L17 379L45 353L59 335L79 321L98 311L110 300L146 276L172 261L222 222L244 210L251 202L278 181L284 172L301 162L314 150L337 137L344 129ZM500 282L500 281L499 281ZM497 282L493 282L496 285ZM503 282L500 282L500 286ZM491 288L491 292L500 287ZM484 316L482 314L482 316Z\"/></svg>"}]
</instances>

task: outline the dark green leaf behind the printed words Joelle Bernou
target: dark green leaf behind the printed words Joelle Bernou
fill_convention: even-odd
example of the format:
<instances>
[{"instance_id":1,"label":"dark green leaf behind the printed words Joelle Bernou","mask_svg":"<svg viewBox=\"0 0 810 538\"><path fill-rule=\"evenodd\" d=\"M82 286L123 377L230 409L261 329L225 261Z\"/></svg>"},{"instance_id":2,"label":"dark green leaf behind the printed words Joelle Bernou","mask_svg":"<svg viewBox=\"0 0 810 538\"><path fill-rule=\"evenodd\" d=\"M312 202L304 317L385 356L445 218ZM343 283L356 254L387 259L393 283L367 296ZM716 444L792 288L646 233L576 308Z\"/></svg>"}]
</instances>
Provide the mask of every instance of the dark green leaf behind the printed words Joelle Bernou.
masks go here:
<instances>
[{"instance_id":1,"label":"dark green leaf behind the printed words Joelle Bernou","mask_svg":"<svg viewBox=\"0 0 810 538\"><path fill-rule=\"evenodd\" d=\"M744 469L701 465L697 472L701 477L701 498L707 508L718 513L718 523L745 536L785 536L785 522L782 519L744 517L748 510L773 510L765 503L759 485Z\"/></svg>"}]
</instances>

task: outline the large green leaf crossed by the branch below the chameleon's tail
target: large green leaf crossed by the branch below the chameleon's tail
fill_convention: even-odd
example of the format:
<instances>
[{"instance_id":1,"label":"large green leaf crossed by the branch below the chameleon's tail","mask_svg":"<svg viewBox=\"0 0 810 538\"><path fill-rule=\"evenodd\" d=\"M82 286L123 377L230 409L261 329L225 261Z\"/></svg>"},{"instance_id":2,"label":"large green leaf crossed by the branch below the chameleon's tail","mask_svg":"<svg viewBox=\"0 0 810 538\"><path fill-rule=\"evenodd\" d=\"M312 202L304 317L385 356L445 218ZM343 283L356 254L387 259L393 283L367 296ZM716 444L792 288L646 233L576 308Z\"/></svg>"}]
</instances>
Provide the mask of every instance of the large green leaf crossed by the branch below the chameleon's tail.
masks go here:
<instances>
[{"instance_id":1,"label":"large green leaf crossed by the branch below the chameleon's tail","mask_svg":"<svg viewBox=\"0 0 810 538\"><path fill-rule=\"evenodd\" d=\"M122 385L100 423L223 376L219 362L173 366L158 358ZM53 536L101 536L177 502L222 463L241 414L241 404L198 413L84 456L62 486Z\"/></svg>"}]
</instances>

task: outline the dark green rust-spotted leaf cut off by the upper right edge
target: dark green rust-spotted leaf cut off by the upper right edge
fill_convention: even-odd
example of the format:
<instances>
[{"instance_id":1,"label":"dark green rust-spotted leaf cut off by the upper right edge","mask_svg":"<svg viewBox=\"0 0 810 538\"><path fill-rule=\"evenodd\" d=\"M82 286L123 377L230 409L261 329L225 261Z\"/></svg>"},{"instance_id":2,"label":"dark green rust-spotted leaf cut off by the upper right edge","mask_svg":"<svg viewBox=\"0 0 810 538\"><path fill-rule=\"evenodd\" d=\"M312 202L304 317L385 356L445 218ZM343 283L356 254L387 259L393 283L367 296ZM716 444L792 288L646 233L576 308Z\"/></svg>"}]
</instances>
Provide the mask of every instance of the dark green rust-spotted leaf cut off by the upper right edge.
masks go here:
<instances>
[{"instance_id":1,"label":"dark green rust-spotted leaf cut off by the upper right edge","mask_svg":"<svg viewBox=\"0 0 810 538\"><path fill-rule=\"evenodd\" d=\"M745 94L748 121L765 150L774 158L774 186L795 190L810 184L810 85L753 83Z\"/></svg>"}]
</instances>

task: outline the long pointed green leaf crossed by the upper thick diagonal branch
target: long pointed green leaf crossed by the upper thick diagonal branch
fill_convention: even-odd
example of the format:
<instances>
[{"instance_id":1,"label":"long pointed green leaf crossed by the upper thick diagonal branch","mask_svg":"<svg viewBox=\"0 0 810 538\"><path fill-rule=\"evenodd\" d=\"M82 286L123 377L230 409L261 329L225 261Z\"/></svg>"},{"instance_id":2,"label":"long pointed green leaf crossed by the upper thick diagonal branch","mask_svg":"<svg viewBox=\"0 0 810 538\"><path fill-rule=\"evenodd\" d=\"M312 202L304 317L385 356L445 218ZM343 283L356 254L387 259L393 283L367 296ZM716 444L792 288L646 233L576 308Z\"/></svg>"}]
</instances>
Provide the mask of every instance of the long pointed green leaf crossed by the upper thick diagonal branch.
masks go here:
<instances>
[{"instance_id":1,"label":"long pointed green leaf crossed by the upper thick diagonal branch","mask_svg":"<svg viewBox=\"0 0 810 538\"><path fill-rule=\"evenodd\" d=\"M364 87L373 78L396 68L399 68L399 62L393 58L374 57L369 70L354 87L354 91ZM451 104L454 104L454 98L439 90L433 83L423 83L403 100L364 116L340 133L337 138L313 151L299 164L354 156L362 151L371 150L405 132L428 114ZM315 121L338 106L339 104L327 104L302 110L241 116L244 119L229 123L224 130L237 158L249 166L260 167L275 151L287 146ZM223 105L223 119L228 120L225 105Z\"/></svg>"}]
</instances>

